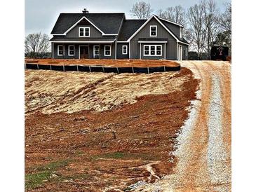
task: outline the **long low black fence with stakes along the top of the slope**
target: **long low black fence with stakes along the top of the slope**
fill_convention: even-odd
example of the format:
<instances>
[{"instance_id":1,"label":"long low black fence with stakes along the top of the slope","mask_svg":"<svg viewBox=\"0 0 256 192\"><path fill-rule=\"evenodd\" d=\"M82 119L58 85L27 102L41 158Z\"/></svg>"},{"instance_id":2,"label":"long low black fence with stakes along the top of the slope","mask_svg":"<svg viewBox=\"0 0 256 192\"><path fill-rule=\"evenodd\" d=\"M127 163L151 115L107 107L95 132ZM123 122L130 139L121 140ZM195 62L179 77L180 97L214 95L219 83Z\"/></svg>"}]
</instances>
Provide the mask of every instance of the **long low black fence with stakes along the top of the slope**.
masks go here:
<instances>
[{"instance_id":1,"label":"long low black fence with stakes along the top of the slope","mask_svg":"<svg viewBox=\"0 0 256 192\"><path fill-rule=\"evenodd\" d=\"M103 73L136 73L136 74L151 74L154 72L166 72L166 71L179 71L178 67L106 67L101 65L53 65L53 64L37 64L37 63L25 63L25 69L36 70L54 70L54 71L84 71L84 72L103 72Z\"/></svg>"}]
</instances>

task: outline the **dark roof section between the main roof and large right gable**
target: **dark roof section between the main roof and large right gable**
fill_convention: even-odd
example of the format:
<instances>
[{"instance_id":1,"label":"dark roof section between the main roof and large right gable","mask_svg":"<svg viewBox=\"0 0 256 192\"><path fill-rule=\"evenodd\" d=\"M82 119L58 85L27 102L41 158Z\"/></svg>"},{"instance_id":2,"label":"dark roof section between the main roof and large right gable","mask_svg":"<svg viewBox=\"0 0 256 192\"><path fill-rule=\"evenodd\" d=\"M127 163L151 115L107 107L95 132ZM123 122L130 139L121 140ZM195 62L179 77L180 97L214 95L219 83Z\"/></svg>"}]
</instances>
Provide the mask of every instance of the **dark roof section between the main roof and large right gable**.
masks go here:
<instances>
[{"instance_id":1,"label":"dark roof section between the main roof and large right gable","mask_svg":"<svg viewBox=\"0 0 256 192\"><path fill-rule=\"evenodd\" d=\"M124 20L118 41L127 41L147 20Z\"/></svg>"}]
</instances>

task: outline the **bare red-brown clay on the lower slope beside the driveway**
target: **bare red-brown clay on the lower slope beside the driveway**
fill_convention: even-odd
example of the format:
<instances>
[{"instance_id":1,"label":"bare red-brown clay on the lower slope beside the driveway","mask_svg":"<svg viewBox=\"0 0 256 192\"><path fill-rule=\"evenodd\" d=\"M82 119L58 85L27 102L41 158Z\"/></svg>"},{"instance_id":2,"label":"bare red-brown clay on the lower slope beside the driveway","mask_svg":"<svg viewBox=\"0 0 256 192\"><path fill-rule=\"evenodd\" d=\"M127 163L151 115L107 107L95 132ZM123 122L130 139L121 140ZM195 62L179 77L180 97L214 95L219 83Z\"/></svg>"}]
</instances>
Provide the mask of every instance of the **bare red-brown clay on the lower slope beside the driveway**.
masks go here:
<instances>
[{"instance_id":1,"label":"bare red-brown clay on the lower slope beside the driveway","mask_svg":"<svg viewBox=\"0 0 256 192\"><path fill-rule=\"evenodd\" d=\"M186 74L182 90L109 111L26 116L27 191L124 191L170 174L175 158L169 152L198 88L189 69L177 76ZM35 175L43 179L36 183Z\"/></svg>"}]
</instances>

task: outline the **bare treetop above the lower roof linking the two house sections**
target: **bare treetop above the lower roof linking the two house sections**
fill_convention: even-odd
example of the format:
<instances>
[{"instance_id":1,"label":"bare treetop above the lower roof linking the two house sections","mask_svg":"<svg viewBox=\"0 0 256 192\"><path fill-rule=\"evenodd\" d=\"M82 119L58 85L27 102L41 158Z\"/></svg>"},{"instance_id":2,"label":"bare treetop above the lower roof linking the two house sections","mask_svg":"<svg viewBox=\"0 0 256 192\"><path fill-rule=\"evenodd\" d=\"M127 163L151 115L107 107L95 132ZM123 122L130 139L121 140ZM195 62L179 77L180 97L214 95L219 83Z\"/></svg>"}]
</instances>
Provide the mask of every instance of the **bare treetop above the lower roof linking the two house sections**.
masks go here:
<instances>
[{"instance_id":1,"label":"bare treetop above the lower roof linking the two house sections","mask_svg":"<svg viewBox=\"0 0 256 192\"><path fill-rule=\"evenodd\" d=\"M148 19L152 13L151 5L147 4L144 1L139 1L135 4L133 4L133 8L130 10L130 13L134 17L137 17L138 19Z\"/></svg>"}]
</instances>

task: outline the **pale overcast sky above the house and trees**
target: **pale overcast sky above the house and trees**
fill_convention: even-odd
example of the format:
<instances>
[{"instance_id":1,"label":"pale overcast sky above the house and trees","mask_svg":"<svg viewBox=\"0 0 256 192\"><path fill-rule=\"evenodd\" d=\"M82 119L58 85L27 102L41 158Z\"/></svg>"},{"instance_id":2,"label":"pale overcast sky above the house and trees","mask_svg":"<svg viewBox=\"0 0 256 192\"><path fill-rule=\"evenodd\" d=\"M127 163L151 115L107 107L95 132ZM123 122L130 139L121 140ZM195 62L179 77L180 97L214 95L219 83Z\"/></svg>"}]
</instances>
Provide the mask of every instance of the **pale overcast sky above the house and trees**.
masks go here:
<instances>
[{"instance_id":1,"label":"pale overcast sky above the house and trees","mask_svg":"<svg viewBox=\"0 0 256 192\"><path fill-rule=\"evenodd\" d=\"M215 0L217 7L223 10L227 0ZM87 8L89 13L126 13L126 18L132 18L130 8L135 0L25 0L25 34L43 32L50 35L51 29L60 13L81 13ZM154 13L160 8L181 5L189 8L198 0L151 0Z\"/></svg>"}]
</instances>

